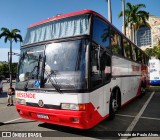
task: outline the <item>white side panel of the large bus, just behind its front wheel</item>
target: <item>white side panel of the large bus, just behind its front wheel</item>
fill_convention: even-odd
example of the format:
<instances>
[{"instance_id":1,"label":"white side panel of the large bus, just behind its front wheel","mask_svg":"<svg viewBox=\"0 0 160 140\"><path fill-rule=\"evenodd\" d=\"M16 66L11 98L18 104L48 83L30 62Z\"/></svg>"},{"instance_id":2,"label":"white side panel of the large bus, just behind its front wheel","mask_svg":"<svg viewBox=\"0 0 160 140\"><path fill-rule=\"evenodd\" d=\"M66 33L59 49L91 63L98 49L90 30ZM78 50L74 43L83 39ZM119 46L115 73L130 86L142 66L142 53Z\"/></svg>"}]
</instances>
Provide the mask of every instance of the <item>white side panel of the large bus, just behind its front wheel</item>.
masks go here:
<instances>
[{"instance_id":1,"label":"white side panel of the large bus, just behind its front wheel","mask_svg":"<svg viewBox=\"0 0 160 140\"><path fill-rule=\"evenodd\" d=\"M112 57L112 89L121 91L121 104L125 104L139 94L141 86L141 66L117 56Z\"/></svg>"}]
</instances>

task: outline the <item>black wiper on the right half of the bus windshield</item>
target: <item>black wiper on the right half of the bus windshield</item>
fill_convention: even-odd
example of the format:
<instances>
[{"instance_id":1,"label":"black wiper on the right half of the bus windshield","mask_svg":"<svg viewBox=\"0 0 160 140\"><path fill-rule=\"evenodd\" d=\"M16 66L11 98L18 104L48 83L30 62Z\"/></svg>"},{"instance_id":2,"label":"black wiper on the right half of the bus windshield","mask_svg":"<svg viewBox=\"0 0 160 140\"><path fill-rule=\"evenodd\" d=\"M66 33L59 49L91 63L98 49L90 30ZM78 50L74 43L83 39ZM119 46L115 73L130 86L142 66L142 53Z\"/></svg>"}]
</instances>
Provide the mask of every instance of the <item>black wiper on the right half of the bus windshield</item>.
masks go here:
<instances>
[{"instance_id":1,"label":"black wiper on the right half of the bus windshield","mask_svg":"<svg viewBox=\"0 0 160 140\"><path fill-rule=\"evenodd\" d=\"M44 70L44 72L45 72L45 74L47 75L47 77L46 77L45 80L44 80L44 83L46 83L46 81L49 80L49 81L51 82L52 86L55 88L55 90L56 90L57 92L59 92L59 93L62 94L62 91L61 91L61 89L60 89L60 86L58 85L58 82L57 82L56 78L53 77L53 75L54 75L54 76L56 75L56 74L55 74L55 71L54 71L54 70L51 70L51 73L50 73L50 74L48 74L48 72L45 71L45 70ZM52 78L54 79L54 81L52 80Z\"/></svg>"}]
</instances>

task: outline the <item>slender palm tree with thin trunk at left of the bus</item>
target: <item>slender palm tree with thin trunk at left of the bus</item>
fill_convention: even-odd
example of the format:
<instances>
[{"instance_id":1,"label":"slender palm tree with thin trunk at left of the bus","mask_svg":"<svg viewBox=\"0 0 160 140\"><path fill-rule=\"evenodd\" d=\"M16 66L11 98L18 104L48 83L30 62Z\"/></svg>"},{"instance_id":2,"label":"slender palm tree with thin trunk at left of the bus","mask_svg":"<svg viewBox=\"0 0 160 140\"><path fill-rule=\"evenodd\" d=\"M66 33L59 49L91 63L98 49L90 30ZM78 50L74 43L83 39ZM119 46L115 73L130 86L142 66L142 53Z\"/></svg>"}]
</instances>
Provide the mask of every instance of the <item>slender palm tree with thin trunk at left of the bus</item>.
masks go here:
<instances>
[{"instance_id":1,"label":"slender palm tree with thin trunk at left of the bus","mask_svg":"<svg viewBox=\"0 0 160 140\"><path fill-rule=\"evenodd\" d=\"M20 30L13 29L9 30L8 28L1 28L2 33L0 34L0 38L4 37L4 42L10 42L10 60L9 60L9 71L10 71L10 87L12 87L12 43L15 41L16 43L22 42L22 36L19 34Z\"/></svg>"}]
</instances>

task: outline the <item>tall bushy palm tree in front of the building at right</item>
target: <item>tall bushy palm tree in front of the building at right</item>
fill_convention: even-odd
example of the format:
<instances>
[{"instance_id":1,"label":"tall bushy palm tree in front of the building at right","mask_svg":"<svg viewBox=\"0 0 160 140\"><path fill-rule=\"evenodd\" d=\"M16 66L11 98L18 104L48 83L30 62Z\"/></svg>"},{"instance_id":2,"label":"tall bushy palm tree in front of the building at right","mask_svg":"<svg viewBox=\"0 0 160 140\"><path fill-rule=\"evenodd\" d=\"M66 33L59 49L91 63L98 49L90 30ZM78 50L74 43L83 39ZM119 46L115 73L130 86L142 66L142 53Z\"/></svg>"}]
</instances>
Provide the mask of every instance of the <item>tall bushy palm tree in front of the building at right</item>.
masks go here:
<instances>
[{"instance_id":1,"label":"tall bushy palm tree in front of the building at right","mask_svg":"<svg viewBox=\"0 0 160 140\"><path fill-rule=\"evenodd\" d=\"M135 31L138 30L141 26L147 25L147 20L149 18L149 13L140 10L145 8L145 4L132 5L131 3L126 3L125 9L125 27L130 28L131 40L133 41L135 37ZM119 17L123 16L123 11L118 15Z\"/></svg>"}]
</instances>

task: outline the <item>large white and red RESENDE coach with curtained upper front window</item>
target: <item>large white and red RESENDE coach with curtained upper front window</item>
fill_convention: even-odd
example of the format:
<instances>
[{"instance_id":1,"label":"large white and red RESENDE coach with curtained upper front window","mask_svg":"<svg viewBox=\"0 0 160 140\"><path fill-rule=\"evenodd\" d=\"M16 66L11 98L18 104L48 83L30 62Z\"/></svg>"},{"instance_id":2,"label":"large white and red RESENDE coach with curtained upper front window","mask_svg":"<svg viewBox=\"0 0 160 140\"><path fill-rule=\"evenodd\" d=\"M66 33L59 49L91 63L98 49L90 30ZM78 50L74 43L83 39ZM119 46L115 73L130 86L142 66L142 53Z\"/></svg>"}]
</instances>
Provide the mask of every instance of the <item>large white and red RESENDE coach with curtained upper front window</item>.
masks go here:
<instances>
[{"instance_id":1,"label":"large white and red RESENDE coach with curtained upper front window","mask_svg":"<svg viewBox=\"0 0 160 140\"><path fill-rule=\"evenodd\" d=\"M22 118L90 129L145 93L149 57L92 10L28 27L18 64Z\"/></svg>"}]
</instances>

